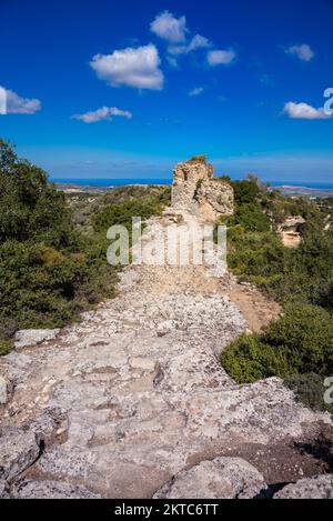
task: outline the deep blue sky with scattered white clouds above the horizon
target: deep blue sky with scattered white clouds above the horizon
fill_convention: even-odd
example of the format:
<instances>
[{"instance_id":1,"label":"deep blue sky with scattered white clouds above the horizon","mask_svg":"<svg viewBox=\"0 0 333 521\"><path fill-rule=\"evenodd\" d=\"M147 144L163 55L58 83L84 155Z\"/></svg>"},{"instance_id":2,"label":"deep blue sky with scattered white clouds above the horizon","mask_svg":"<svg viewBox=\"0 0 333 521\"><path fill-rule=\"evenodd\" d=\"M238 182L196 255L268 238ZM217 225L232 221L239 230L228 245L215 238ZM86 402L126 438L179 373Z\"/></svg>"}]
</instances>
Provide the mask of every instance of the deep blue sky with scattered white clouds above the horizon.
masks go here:
<instances>
[{"instance_id":1,"label":"deep blue sky with scattered white clouds above the horizon","mask_svg":"<svg viewBox=\"0 0 333 521\"><path fill-rule=\"evenodd\" d=\"M0 0L0 136L52 178L333 183L331 0Z\"/></svg>"}]
</instances>

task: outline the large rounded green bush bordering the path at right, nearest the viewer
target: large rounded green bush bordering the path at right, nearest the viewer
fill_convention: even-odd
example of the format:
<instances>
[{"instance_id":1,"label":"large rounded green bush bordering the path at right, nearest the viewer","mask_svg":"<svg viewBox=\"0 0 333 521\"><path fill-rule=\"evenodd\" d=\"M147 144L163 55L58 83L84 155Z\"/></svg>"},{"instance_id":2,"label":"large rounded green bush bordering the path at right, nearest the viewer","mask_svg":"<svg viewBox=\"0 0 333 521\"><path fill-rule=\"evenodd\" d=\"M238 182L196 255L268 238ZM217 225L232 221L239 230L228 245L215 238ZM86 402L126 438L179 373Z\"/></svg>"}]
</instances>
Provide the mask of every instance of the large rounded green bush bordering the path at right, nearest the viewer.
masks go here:
<instances>
[{"instance_id":1,"label":"large rounded green bush bordering the path at right, nearest the viewer","mask_svg":"<svg viewBox=\"0 0 333 521\"><path fill-rule=\"evenodd\" d=\"M333 374L333 318L316 305L290 305L259 334L242 335L221 357L238 383L273 375Z\"/></svg>"}]
</instances>

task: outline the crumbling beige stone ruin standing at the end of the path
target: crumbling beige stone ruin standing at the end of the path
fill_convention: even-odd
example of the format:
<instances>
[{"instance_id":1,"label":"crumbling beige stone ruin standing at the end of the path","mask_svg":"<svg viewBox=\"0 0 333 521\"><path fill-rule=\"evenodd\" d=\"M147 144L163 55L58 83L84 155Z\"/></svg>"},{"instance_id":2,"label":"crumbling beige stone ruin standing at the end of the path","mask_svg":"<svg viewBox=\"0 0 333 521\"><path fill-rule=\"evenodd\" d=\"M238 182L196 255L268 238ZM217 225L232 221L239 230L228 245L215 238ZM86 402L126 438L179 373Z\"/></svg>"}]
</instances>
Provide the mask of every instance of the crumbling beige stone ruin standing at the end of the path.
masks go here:
<instances>
[{"instance_id":1,"label":"crumbling beige stone ruin standing at the end of the path","mask_svg":"<svg viewBox=\"0 0 333 521\"><path fill-rule=\"evenodd\" d=\"M195 217L215 222L220 216L231 216L234 208L233 189L214 178L212 164L204 161L179 163L173 172L171 208L167 216L185 220Z\"/></svg>"}]
</instances>

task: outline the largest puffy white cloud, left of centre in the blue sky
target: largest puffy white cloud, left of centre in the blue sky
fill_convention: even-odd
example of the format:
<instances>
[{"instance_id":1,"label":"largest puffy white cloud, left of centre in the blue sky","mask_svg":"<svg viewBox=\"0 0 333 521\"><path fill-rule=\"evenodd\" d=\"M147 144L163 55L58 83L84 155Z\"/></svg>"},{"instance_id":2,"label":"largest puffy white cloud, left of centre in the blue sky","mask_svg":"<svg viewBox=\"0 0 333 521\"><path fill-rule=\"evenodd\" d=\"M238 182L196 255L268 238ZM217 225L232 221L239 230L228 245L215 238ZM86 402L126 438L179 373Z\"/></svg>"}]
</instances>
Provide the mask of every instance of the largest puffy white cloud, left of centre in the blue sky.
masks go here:
<instances>
[{"instance_id":1,"label":"largest puffy white cloud, left of centre in the blue sky","mask_svg":"<svg viewBox=\"0 0 333 521\"><path fill-rule=\"evenodd\" d=\"M160 63L159 51L150 43L135 49L129 47L112 54L97 54L90 66L111 87L161 90L164 76L159 69Z\"/></svg>"}]
</instances>

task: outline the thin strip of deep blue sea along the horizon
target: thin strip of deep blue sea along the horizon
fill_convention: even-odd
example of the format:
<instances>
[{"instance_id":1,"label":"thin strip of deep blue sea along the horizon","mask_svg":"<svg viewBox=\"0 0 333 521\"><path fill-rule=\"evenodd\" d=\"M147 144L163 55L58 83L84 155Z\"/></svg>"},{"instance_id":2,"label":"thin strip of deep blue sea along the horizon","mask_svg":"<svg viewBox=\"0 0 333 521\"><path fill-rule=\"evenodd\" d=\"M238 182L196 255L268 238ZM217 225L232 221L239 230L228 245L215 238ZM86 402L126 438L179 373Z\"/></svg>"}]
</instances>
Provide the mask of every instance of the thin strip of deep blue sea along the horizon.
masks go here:
<instances>
[{"instance_id":1,"label":"thin strip of deep blue sea along the horizon","mask_svg":"<svg viewBox=\"0 0 333 521\"><path fill-rule=\"evenodd\" d=\"M171 184L172 179L52 179L51 182L63 184L79 184L84 187L125 187L129 184ZM300 181L270 181L273 187L297 187L316 190L333 190L333 183L300 182Z\"/></svg>"}]
</instances>

